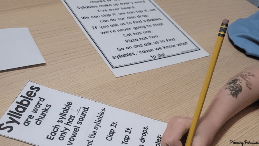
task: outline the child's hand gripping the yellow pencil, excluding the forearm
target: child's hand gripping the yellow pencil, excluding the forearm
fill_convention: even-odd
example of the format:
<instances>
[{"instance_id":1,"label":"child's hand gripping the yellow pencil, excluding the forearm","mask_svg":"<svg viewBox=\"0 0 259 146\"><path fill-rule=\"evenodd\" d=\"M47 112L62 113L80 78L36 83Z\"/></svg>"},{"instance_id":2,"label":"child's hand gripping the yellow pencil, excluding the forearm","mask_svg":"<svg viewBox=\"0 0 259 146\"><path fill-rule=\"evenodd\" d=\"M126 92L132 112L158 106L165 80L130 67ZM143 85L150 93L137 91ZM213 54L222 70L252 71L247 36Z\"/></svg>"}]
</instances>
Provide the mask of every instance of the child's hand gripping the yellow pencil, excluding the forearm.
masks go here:
<instances>
[{"instance_id":1,"label":"child's hand gripping the yellow pencil, excluding the forearm","mask_svg":"<svg viewBox=\"0 0 259 146\"><path fill-rule=\"evenodd\" d=\"M184 146L187 132L191 126L192 118L172 117L162 136L162 146ZM219 126L215 126L214 122L206 120L203 117L199 119L195 135L193 137L192 146L208 146L218 131Z\"/></svg>"}]
</instances>

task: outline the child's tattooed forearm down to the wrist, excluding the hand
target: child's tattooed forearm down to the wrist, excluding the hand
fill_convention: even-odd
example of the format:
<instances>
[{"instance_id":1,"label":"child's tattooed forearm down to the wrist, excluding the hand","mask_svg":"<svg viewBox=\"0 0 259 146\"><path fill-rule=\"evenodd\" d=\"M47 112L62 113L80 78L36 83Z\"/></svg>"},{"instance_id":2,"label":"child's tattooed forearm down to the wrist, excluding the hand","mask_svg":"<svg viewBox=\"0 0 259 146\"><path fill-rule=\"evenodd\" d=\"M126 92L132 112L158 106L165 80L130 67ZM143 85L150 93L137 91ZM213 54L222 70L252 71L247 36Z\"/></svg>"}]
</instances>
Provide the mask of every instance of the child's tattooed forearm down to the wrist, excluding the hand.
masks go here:
<instances>
[{"instance_id":1,"label":"child's tattooed forearm down to the wrist, excluding the hand","mask_svg":"<svg viewBox=\"0 0 259 146\"><path fill-rule=\"evenodd\" d=\"M200 123L210 123L214 134L233 115L259 99L259 67L250 67L230 79L215 96ZM205 124L208 125L208 124Z\"/></svg>"}]
</instances>

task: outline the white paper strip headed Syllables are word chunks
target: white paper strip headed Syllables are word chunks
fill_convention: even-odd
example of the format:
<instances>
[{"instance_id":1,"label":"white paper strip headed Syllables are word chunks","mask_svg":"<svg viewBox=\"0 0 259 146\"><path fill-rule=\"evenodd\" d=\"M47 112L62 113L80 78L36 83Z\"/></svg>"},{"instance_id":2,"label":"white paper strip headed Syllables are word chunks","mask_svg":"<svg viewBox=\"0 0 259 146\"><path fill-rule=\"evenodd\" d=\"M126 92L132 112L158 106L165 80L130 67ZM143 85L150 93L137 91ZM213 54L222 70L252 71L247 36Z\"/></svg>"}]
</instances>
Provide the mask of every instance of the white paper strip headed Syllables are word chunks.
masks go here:
<instances>
[{"instance_id":1,"label":"white paper strip headed Syllables are word chunks","mask_svg":"<svg viewBox=\"0 0 259 146\"><path fill-rule=\"evenodd\" d=\"M28 81L0 135L39 146L160 146L167 124Z\"/></svg>"}]
</instances>

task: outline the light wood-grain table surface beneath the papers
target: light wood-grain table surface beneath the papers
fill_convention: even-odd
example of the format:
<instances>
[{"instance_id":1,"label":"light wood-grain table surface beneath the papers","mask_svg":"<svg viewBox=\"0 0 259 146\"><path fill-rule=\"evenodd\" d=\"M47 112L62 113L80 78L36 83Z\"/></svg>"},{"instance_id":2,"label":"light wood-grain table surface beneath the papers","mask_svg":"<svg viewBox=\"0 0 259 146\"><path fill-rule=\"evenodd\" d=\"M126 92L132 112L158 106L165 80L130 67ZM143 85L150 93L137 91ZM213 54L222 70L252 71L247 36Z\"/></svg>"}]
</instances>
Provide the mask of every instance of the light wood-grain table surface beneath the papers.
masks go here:
<instances>
[{"instance_id":1,"label":"light wood-grain table surface beneath the papers","mask_svg":"<svg viewBox=\"0 0 259 146\"><path fill-rule=\"evenodd\" d=\"M258 10L246 0L155 2L210 55L224 18L231 24ZM194 114L210 56L116 78L60 0L1 0L0 20L0 28L28 27L46 61L0 71L0 117L28 80L166 123ZM258 63L226 35L202 113L228 79ZM211 146L258 141L258 108L253 103L228 120ZM30 145L3 136L0 141L0 146Z\"/></svg>"}]
</instances>

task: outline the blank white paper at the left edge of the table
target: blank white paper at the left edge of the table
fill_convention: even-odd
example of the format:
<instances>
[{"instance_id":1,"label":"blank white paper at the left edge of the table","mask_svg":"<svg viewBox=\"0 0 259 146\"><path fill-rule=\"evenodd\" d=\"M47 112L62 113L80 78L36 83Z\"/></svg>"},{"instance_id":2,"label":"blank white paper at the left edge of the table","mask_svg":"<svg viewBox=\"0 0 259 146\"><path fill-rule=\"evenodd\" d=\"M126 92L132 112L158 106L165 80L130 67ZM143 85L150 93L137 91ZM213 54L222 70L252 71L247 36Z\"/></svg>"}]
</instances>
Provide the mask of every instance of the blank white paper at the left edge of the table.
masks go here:
<instances>
[{"instance_id":1,"label":"blank white paper at the left edge of the table","mask_svg":"<svg viewBox=\"0 0 259 146\"><path fill-rule=\"evenodd\" d=\"M0 70L46 63L28 28L0 29Z\"/></svg>"}]
</instances>

